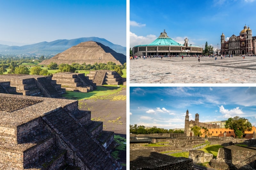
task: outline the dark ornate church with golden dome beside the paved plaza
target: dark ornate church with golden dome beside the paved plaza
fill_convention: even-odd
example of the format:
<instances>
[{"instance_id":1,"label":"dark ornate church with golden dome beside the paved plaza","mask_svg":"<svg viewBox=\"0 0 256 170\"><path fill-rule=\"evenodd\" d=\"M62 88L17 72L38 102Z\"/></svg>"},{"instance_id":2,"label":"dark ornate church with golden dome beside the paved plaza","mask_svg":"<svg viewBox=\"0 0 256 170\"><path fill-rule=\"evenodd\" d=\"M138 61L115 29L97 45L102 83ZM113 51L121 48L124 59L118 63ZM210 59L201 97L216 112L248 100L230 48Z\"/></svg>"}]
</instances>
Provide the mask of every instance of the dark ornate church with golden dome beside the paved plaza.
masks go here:
<instances>
[{"instance_id":1,"label":"dark ornate church with golden dome beside the paved plaza","mask_svg":"<svg viewBox=\"0 0 256 170\"><path fill-rule=\"evenodd\" d=\"M232 35L228 41L225 41L225 35L222 32L220 36L220 53L222 55L255 55L256 54L256 36L252 36L252 30L245 25L239 36Z\"/></svg>"}]
</instances>

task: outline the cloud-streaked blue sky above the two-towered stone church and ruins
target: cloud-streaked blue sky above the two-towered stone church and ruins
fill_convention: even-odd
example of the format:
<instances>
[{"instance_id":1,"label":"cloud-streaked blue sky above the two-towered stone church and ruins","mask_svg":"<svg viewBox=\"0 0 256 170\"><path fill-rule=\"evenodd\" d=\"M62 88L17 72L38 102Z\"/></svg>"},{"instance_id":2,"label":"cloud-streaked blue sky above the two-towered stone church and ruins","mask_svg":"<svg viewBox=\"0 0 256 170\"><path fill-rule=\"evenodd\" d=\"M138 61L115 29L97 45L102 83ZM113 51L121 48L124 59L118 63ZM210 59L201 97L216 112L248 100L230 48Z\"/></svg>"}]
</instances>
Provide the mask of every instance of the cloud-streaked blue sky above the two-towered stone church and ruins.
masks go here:
<instances>
[{"instance_id":1,"label":"cloud-streaked blue sky above the two-towered stone church and ruins","mask_svg":"<svg viewBox=\"0 0 256 170\"><path fill-rule=\"evenodd\" d=\"M199 122L245 117L256 125L256 87L130 87L130 124L146 127L184 128Z\"/></svg>"}]
</instances>

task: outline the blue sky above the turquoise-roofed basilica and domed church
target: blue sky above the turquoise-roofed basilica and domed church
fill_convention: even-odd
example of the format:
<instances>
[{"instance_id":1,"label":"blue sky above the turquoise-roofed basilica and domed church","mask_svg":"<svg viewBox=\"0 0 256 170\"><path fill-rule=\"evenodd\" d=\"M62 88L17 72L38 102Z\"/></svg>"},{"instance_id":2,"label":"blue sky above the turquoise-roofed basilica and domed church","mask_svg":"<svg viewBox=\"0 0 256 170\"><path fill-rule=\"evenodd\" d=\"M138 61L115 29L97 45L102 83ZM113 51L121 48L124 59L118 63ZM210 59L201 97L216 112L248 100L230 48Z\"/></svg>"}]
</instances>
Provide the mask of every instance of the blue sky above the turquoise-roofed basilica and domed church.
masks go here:
<instances>
[{"instance_id":1,"label":"blue sky above the turquoise-roofed basilica and domed church","mask_svg":"<svg viewBox=\"0 0 256 170\"><path fill-rule=\"evenodd\" d=\"M130 47L151 43L165 29L181 44L187 37L189 44L220 49L222 32L228 40L246 24L256 36L255 8L255 0L130 0Z\"/></svg>"}]
</instances>

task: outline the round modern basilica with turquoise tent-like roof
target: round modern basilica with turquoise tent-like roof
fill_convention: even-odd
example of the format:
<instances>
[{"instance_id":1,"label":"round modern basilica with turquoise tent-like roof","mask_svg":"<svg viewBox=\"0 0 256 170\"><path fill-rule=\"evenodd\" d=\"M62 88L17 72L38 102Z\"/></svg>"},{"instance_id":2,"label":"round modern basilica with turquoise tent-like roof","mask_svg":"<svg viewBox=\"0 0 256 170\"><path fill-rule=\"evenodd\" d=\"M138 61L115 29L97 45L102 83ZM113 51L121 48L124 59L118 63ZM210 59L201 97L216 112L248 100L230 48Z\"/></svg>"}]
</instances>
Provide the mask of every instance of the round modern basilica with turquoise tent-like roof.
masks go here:
<instances>
[{"instance_id":1,"label":"round modern basilica with turquoise tent-like roof","mask_svg":"<svg viewBox=\"0 0 256 170\"><path fill-rule=\"evenodd\" d=\"M203 48L200 46L192 46L188 44L188 39L184 39L185 43L180 44L170 37L167 33L161 32L160 36L148 45L138 45L132 48L133 55L149 56L149 55L202 55Z\"/></svg>"}]
</instances>

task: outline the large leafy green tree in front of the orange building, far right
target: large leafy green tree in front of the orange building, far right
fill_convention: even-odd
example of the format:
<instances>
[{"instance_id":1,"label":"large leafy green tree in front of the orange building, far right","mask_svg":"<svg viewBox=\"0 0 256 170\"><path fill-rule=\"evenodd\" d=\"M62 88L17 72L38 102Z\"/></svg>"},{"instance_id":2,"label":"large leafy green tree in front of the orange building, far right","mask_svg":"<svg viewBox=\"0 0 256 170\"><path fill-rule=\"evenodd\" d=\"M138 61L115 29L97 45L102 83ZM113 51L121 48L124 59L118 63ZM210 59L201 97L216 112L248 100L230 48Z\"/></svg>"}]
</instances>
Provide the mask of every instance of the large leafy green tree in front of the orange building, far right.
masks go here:
<instances>
[{"instance_id":1,"label":"large leafy green tree in front of the orange building, far right","mask_svg":"<svg viewBox=\"0 0 256 170\"><path fill-rule=\"evenodd\" d=\"M245 131L252 131L252 124L244 117L230 117L226 121L225 128L231 129L236 137L241 138Z\"/></svg>"}]
</instances>

